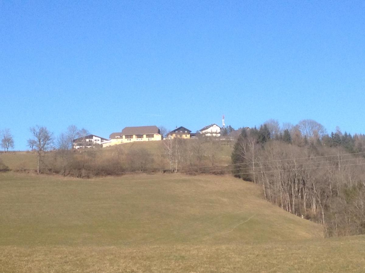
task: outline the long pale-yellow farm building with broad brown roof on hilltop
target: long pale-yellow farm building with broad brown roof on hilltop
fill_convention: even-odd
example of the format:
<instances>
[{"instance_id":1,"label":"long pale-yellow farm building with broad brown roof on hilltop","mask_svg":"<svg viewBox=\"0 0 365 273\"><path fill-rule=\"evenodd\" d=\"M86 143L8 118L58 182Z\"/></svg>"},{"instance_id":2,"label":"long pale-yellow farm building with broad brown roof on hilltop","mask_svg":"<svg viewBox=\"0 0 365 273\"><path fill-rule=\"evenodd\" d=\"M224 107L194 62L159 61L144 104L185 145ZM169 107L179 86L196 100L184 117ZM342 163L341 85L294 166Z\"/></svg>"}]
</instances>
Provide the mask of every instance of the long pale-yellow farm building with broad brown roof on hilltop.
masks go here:
<instances>
[{"instance_id":1,"label":"long pale-yellow farm building with broad brown roof on hilltop","mask_svg":"<svg viewBox=\"0 0 365 273\"><path fill-rule=\"evenodd\" d=\"M105 143L105 147L136 141L159 141L162 136L157 126L136 126L124 127L122 132L112 133L109 138L110 142Z\"/></svg>"}]
</instances>

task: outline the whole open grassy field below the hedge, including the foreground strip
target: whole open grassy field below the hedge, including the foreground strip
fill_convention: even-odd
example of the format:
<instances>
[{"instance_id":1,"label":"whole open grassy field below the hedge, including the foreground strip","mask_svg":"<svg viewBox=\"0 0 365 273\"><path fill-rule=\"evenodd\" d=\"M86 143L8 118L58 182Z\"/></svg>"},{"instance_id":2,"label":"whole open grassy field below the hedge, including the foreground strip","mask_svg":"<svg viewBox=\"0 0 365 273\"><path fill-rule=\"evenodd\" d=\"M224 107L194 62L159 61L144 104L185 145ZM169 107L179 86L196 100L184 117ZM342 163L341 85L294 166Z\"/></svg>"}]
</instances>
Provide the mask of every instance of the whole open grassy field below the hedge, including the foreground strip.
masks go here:
<instances>
[{"instance_id":1,"label":"whole open grassy field below the hedge, including the foreground strip","mask_svg":"<svg viewBox=\"0 0 365 273\"><path fill-rule=\"evenodd\" d=\"M365 237L232 177L0 174L1 272L363 272Z\"/></svg>"}]
</instances>

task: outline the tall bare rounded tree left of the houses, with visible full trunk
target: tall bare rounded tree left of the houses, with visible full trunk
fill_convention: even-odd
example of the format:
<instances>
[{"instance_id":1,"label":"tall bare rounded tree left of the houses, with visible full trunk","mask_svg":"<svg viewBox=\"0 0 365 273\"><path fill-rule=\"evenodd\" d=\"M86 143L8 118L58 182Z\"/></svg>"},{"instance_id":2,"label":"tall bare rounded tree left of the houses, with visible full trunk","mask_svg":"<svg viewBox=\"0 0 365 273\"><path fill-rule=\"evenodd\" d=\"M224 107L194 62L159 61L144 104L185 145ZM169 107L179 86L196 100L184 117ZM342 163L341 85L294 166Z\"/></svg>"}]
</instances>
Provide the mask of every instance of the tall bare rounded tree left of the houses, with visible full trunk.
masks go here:
<instances>
[{"instance_id":1,"label":"tall bare rounded tree left of the houses, with visible full trunk","mask_svg":"<svg viewBox=\"0 0 365 273\"><path fill-rule=\"evenodd\" d=\"M35 126L29 128L33 139L28 139L28 145L34 144L34 148L38 154L37 173L41 173L41 159L44 153L49 150L53 143L53 133L48 131L46 127Z\"/></svg>"}]
</instances>

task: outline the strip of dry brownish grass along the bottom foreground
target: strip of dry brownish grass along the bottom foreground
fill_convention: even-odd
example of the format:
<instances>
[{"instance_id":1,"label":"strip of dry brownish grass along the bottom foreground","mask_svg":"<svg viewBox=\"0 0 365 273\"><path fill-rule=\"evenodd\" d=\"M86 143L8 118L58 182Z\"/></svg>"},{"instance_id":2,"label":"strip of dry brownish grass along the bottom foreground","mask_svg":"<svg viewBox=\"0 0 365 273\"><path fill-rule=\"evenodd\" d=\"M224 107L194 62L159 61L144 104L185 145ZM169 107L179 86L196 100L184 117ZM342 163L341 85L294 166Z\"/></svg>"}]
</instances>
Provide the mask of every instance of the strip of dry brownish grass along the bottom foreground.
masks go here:
<instances>
[{"instance_id":1,"label":"strip of dry brownish grass along the bottom foreground","mask_svg":"<svg viewBox=\"0 0 365 273\"><path fill-rule=\"evenodd\" d=\"M139 247L0 246L2 272L364 272L365 237Z\"/></svg>"}]
</instances>

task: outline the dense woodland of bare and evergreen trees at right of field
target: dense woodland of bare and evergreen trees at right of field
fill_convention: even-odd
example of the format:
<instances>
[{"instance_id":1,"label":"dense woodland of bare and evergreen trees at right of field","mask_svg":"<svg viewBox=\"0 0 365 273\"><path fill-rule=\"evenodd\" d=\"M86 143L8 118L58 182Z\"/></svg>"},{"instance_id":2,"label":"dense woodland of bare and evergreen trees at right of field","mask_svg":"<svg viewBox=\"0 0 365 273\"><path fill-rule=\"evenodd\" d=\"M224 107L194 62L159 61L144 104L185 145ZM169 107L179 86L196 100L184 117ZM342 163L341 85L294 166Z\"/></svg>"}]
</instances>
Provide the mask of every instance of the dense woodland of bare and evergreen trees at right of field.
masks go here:
<instances>
[{"instance_id":1,"label":"dense woodland of bare and evergreen trees at right of field","mask_svg":"<svg viewBox=\"0 0 365 273\"><path fill-rule=\"evenodd\" d=\"M314 120L243 129L232 153L236 177L265 198L325 227L327 236L365 234L365 135L327 134Z\"/></svg>"}]
</instances>

